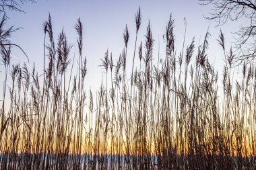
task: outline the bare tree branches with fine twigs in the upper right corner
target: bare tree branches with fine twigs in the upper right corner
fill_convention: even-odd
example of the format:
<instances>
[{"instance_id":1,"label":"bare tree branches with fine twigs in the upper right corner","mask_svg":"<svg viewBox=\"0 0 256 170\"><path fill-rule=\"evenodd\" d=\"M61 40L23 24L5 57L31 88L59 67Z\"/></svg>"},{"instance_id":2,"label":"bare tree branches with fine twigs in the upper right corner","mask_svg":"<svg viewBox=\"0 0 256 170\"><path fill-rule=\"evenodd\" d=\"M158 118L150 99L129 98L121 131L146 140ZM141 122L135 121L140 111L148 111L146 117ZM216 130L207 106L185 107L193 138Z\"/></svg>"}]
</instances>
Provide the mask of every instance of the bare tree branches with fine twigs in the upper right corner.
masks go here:
<instances>
[{"instance_id":1,"label":"bare tree branches with fine twigs in the upper right corner","mask_svg":"<svg viewBox=\"0 0 256 170\"><path fill-rule=\"evenodd\" d=\"M240 52L236 60L251 62L256 56L256 0L199 0L201 5L213 5L207 19L215 20L217 26L226 24L228 20L248 19L248 26L238 28L235 47Z\"/></svg>"}]
</instances>

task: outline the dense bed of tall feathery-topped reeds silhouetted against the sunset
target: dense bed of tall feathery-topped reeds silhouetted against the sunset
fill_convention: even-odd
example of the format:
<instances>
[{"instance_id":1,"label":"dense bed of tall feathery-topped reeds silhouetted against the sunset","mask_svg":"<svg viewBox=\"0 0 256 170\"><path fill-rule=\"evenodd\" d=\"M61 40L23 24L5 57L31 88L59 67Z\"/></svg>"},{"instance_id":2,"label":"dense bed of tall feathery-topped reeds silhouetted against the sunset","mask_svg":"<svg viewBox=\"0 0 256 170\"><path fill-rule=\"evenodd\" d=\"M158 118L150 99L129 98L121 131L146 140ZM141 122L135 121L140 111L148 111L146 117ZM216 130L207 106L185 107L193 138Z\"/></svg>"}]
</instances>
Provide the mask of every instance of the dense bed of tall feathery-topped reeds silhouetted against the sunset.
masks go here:
<instances>
[{"instance_id":1,"label":"dense bed of tall feathery-topped reeds silhouetted against the sunset","mask_svg":"<svg viewBox=\"0 0 256 170\"><path fill-rule=\"evenodd\" d=\"M63 30L54 39L50 15L44 22L42 73L29 71L26 63L10 64L15 30L4 28L5 19L0 169L256 169L256 71L253 63L244 64L242 78L233 79L235 55L222 32L225 62L218 74L207 56L208 32L198 47L194 39L185 47L184 40L177 54L172 16L165 56L153 56L150 22L137 42L139 9L133 56L127 55L133 47L126 26L123 51L115 59L106 51L99 64L102 83L93 95L86 90L80 19L78 54L71 53ZM127 60L133 60L129 69Z\"/></svg>"}]
</instances>

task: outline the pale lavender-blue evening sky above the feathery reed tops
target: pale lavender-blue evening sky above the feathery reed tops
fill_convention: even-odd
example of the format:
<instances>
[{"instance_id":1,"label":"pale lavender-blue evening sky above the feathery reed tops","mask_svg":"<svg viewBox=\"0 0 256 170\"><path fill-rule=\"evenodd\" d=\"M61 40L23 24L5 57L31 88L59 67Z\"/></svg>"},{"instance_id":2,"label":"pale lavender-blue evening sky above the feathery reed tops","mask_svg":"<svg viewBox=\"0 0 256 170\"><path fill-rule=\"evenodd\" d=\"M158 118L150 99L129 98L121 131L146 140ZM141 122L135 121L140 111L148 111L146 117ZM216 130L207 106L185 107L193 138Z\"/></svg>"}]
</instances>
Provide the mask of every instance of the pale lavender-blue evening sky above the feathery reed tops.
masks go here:
<instances>
[{"instance_id":1,"label":"pale lavender-blue evening sky above the feathery reed tops","mask_svg":"<svg viewBox=\"0 0 256 170\"><path fill-rule=\"evenodd\" d=\"M15 26L22 28L13 33L11 42L19 44L30 58L30 67L32 63L38 71L42 71L43 66L43 43L44 31L42 24L47 20L49 13L53 21L53 34L57 42L57 35L62 28L67 34L67 40L77 49L75 24L77 18L81 18L84 26L84 56L87 57L88 75L86 76L86 86L88 89L98 89L100 87L102 69L100 59L104 57L106 50L113 53L114 60L119 58L125 44L123 42L123 31L125 26L129 29L129 42L127 50L127 65L131 67L133 49L135 44L135 13L141 9L141 28L138 32L138 42L145 42L146 26L150 21L154 38L154 60L157 59L158 44L160 44L160 56L164 56L164 40L162 35L165 32L166 23L172 14L174 20L174 35L177 54L182 50L183 38L185 36L185 46L191 43L195 37L195 46L202 44L207 29L211 34L209 38L210 48L207 54L210 63L216 67L219 75L222 75L224 66L223 51L218 44L218 35L220 29L224 32L226 46L229 48L234 42L234 34L246 21L227 22L222 27L216 27L216 22L205 19L203 16L209 15L211 5L199 5L197 0L37 0L36 3L25 3L22 10L7 11L6 26ZM1 13L1 15L3 15ZM187 22L187 32L185 34L185 21ZM78 50L71 52L77 54ZM195 50L195 54L197 50ZM137 52L136 52L137 54ZM194 57L195 57L194 54ZM136 55L137 56L137 55ZM137 56L138 58L138 56ZM138 59L135 60L139 61ZM28 62L26 56L17 49L12 49L11 63ZM3 65L1 65L0 81L3 82ZM1 83L1 87L2 87ZM1 88L2 89L2 88Z\"/></svg>"}]
</instances>

